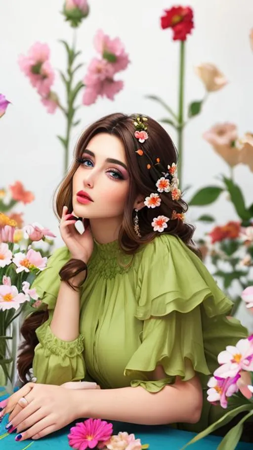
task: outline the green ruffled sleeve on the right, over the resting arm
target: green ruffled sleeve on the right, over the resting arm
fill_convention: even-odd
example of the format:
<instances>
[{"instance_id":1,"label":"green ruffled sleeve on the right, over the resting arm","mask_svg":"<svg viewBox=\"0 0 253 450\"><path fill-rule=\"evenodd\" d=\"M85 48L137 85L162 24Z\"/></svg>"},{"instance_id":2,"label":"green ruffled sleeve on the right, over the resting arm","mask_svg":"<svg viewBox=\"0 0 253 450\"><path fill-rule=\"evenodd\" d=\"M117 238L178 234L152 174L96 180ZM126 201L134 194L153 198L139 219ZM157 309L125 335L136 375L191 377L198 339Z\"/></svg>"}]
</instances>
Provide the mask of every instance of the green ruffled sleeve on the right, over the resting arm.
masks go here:
<instances>
[{"instance_id":1,"label":"green ruffled sleeve on the right, over the resting arm","mask_svg":"<svg viewBox=\"0 0 253 450\"><path fill-rule=\"evenodd\" d=\"M131 386L158 392L176 376L188 381L196 373L205 384L218 353L229 342L233 345L231 339L247 336L239 321L226 318L232 302L201 260L170 235L147 245L138 280L136 317L143 321L143 333L124 372ZM167 377L152 380L150 374L158 365Z\"/></svg>"}]
</instances>

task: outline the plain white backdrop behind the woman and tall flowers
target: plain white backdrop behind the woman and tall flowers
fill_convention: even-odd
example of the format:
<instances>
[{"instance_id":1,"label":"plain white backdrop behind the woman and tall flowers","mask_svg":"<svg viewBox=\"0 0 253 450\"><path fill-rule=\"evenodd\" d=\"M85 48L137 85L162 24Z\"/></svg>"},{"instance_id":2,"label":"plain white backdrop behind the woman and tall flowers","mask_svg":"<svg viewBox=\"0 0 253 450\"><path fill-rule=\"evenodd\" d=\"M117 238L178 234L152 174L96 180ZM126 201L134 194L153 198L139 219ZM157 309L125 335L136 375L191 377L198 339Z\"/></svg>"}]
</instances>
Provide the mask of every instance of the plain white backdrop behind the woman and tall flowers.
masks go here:
<instances>
[{"instance_id":1,"label":"plain white backdrop behind the woman and tall flowers","mask_svg":"<svg viewBox=\"0 0 253 450\"><path fill-rule=\"evenodd\" d=\"M229 79L229 85L210 95L203 113L186 128L184 180L197 189L213 183L218 173L227 173L226 164L202 139L204 131L215 122L238 124L240 135L253 132L253 51L249 32L253 27L252 0L191 0L195 14L195 30L186 48L186 102L202 98L204 88L193 71L201 62L211 62ZM165 111L145 98L156 94L171 106L177 105L178 43L172 42L171 31L160 28L164 8L170 0L90 0L90 15L78 30L78 47L88 63L95 55L92 39L101 28L111 37L119 36L129 52L131 64L119 75L125 89L112 102L99 99L80 110L81 124L71 138L72 150L81 131L100 116L115 112L141 112L155 119ZM39 96L21 73L17 58L26 54L35 42L46 42L51 48L55 68L65 68L65 52L59 39L71 42L72 29L59 13L62 0L0 0L0 92L12 102L0 120L0 185L21 180L35 193L36 201L26 206L26 222L37 221L58 236L52 213L52 195L62 177L63 151L56 134L63 134L64 119L60 111L46 113ZM81 72L82 73L82 70ZM84 72L85 74L85 67ZM54 89L61 95L59 79ZM173 134L172 134L173 136ZM247 203L253 201L253 174L246 166L238 166L236 180L246 192ZM220 223L236 216L225 196L206 212L219 216ZM203 211L202 211L203 212ZM200 211L190 210L189 218ZM197 230L198 233L198 230ZM199 231L200 233L200 231ZM61 244L58 237L57 246Z\"/></svg>"}]
</instances>

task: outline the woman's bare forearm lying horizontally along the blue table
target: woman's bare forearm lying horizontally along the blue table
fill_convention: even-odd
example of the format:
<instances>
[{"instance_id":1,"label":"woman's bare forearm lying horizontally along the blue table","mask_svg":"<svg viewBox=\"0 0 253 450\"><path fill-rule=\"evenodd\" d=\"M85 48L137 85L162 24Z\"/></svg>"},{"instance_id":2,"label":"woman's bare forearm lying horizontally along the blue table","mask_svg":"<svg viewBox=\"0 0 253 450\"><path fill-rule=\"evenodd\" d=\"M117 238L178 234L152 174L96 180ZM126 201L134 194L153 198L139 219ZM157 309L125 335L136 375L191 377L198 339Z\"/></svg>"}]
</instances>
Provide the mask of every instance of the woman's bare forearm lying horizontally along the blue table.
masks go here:
<instances>
[{"instance_id":1,"label":"woman's bare forearm lying horizontally along the blue table","mask_svg":"<svg viewBox=\"0 0 253 450\"><path fill-rule=\"evenodd\" d=\"M138 386L80 391L79 396L78 417L146 425L196 423L200 419L203 399L202 389L196 378L165 386L155 394Z\"/></svg>"}]
</instances>

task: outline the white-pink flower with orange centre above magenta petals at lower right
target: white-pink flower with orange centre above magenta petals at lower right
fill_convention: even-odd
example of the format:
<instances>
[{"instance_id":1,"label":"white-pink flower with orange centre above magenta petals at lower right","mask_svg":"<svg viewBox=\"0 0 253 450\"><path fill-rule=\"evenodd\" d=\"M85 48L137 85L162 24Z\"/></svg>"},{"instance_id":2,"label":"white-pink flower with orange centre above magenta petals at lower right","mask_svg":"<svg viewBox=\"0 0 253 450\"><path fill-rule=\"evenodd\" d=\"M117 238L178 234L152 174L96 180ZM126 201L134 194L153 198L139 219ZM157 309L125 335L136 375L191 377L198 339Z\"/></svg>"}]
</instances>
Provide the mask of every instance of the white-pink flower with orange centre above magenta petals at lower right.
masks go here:
<instances>
[{"instance_id":1,"label":"white-pink flower with orange centre above magenta petals at lower right","mask_svg":"<svg viewBox=\"0 0 253 450\"><path fill-rule=\"evenodd\" d=\"M215 377L228 378L236 376L241 370L253 371L253 341L240 339L236 346L228 345L219 353L218 362L221 366L215 370Z\"/></svg>"}]
</instances>

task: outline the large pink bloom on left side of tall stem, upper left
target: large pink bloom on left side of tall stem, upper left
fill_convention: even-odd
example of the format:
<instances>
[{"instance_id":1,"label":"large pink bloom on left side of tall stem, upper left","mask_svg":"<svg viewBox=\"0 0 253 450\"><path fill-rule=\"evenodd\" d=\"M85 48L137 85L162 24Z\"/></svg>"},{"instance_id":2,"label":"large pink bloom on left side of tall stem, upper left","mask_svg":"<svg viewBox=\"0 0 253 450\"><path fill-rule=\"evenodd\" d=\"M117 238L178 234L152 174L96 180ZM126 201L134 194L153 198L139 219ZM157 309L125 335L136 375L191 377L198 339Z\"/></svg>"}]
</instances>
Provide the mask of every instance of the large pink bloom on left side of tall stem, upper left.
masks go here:
<instances>
[{"instance_id":1,"label":"large pink bloom on left side of tall stem, upper left","mask_svg":"<svg viewBox=\"0 0 253 450\"><path fill-rule=\"evenodd\" d=\"M20 55L20 69L30 79L40 95L48 95L54 82L54 72L49 62L50 50L47 44L35 43L28 56Z\"/></svg>"}]
</instances>

